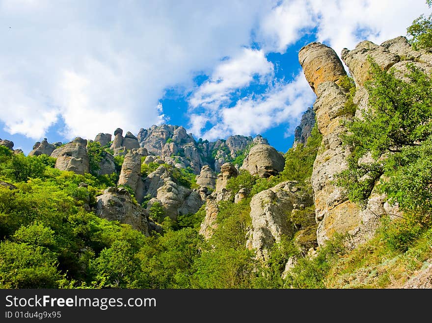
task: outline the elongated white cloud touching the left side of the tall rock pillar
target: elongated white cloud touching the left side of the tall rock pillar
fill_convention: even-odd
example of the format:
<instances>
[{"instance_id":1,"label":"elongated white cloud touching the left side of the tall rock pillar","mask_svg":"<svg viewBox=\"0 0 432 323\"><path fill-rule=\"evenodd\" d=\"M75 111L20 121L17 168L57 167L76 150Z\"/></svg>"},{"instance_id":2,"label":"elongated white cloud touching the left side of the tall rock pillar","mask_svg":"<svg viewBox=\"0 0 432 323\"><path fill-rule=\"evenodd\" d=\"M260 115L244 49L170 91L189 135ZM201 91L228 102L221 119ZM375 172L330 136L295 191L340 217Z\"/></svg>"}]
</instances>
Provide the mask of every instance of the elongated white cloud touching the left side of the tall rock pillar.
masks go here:
<instances>
[{"instance_id":1,"label":"elongated white cloud touching the left side of the tall rock pillar","mask_svg":"<svg viewBox=\"0 0 432 323\"><path fill-rule=\"evenodd\" d=\"M277 83L263 95L240 99L233 107L221 107L217 113L210 114L214 125L204 133L204 121L209 118L203 114L191 116L190 130L215 140L233 134L258 134L284 123L297 125L301 113L314 99L304 76L298 74L292 82ZM209 111L205 115L209 116Z\"/></svg>"}]
</instances>

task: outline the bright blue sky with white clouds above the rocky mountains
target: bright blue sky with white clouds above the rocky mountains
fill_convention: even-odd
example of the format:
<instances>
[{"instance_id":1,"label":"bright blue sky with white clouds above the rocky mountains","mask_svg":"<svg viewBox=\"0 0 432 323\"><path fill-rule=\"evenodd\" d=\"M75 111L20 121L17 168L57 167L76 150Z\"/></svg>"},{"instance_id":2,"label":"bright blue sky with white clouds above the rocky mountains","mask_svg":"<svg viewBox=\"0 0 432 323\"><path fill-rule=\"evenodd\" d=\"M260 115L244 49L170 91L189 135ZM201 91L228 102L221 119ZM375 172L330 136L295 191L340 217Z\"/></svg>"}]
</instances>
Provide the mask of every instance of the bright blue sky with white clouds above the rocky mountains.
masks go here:
<instances>
[{"instance_id":1,"label":"bright blue sky with white clouds above the rocky mountains","mask_svg":"<svg viewBox=\"0 0 432 323\"><path fill-rule=\"evenodd\" d=\"M285 152L315 100L302 46L380 44L428 12L424 0L0 0L0 138L27 154L44 137L167 123Z\"/></svg>"}]
</instances>

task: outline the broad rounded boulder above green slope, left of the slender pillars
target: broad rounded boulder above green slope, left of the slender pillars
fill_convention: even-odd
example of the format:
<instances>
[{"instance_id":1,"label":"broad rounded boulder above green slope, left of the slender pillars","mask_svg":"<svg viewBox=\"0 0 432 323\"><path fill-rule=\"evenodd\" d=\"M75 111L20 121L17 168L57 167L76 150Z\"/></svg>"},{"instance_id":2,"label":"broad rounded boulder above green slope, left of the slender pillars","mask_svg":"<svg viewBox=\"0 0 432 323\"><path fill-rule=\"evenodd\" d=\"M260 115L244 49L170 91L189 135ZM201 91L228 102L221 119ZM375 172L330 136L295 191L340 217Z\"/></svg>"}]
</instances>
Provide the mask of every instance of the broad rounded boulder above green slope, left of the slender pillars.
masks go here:
<instances>
[{"instance_id":1,"label":"broad rounded boulder above green slope, left of the slender pillars","mask_svg":"<svg viewBox=\"0 0 432 323\"><path fill-rule=\"evenodd\" d=\"M86 146L87 140L77 137L70 143L54 149L51 157L57 158L55 168L81 175L88 173L89 163Z\"/></svg>"}]
</instances>

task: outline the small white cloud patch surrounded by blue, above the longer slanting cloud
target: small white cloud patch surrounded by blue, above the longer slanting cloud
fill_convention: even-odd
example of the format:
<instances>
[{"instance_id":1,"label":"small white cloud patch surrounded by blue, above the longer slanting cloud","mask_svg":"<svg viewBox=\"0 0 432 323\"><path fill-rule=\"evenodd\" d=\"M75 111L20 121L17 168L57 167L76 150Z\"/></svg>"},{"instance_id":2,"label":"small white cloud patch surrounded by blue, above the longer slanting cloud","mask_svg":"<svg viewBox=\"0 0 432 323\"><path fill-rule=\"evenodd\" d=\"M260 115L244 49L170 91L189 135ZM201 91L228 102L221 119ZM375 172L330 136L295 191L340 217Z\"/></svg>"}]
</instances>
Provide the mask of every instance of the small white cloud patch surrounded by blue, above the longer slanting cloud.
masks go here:
<instances>
[{"instance_id":1,"label":"small white cloud patch surrounded by blue, above the longer slanting cloud","mask_svg":"<svg viewBox=\"0 0 432 323\"><path fill-rule=\"evenodd\" d=\"M229 102L231 92L248 86L259 76L263 83L273 73L273 64L263 50L244 48L237 56L226 59L216 66L210 79L204 82L189 99L192 108L205 106L217 108Z\"/></svg>"}]
</instances>

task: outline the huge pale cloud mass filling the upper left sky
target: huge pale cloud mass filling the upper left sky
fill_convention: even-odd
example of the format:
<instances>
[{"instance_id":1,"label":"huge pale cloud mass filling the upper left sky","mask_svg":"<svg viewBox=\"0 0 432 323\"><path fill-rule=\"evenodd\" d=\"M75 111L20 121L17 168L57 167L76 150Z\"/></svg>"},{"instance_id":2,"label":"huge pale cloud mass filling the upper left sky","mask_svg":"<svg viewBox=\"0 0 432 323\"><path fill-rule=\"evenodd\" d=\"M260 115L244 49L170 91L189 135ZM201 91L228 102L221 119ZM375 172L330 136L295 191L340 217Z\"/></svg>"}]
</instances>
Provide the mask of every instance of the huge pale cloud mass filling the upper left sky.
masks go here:
<instances>
[{"instance_id":1,"label":"huge pale cloud mass filling the upper left sky","mask_svg":"<svg viewBox=\"0 0 432 323\"><path fill-rule=\"evenodd\" d=\"M192 86L235 56L273 3L1 1L0 121L39 139L57 120L67 139L161 122L167 87ZM165 119L164 119L165 120Z\"/></svg>"}]
</instances>

